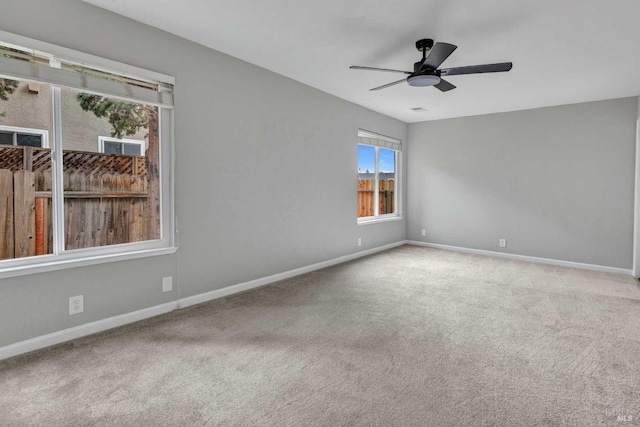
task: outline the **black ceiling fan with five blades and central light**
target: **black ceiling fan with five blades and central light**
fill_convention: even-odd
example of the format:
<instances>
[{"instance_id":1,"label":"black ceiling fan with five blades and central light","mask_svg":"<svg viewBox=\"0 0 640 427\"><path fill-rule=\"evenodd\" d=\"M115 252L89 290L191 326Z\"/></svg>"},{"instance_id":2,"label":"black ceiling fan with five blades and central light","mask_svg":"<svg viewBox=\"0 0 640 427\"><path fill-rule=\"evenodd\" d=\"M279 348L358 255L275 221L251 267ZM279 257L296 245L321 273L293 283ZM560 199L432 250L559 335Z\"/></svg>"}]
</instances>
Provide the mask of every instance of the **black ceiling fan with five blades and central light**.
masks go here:
<instances>
[{"instance_id":1,"label":"black ceiling fan with five blades and central light","mask_svg":"<svg viewBox=\"0 0 640 427\"><path fill-rule=\"evenodd\" d=\"M460 74L479 73L499 73L509 71L513 64L511 62L501 62L499 64L470 65L467 67L442 68L438 67L456 50L458 46L449 43L436 43L433 45L432 39L422 39L416 42L416 48L422 52L422 59L413 64L413 71L391 70L389 68L361 67L352 65L354 70L386 71L389 73L408 74L409 77L397 82L374 87L370 90L380 90L389 86L400 84L404 81L410 86L434 86L442 92L447 92L456 87L444 80L442 76L456 76ZM427 51L429 52L427 54Z\"/></svg>"}]
</instances>

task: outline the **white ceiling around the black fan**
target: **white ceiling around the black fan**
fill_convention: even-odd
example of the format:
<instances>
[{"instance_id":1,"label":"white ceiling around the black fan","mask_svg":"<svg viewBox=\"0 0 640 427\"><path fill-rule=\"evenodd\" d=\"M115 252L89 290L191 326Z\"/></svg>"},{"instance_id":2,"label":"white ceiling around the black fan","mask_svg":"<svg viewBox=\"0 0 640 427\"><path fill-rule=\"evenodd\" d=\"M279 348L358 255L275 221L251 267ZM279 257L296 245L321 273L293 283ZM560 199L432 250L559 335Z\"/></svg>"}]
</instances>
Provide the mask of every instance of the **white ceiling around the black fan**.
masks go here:
<instances>
[{"instance_id":1,"label":"white ceiling around the black fan","mask_svg":"<svg viewBox=\"0 0 640 427\"><path fill-rule=\"evenodd\" d=\"M85 1L405 122L640 94L639 0ZM446 93L349 69L411 70L421 38L458 46L443 68L513 69Z\"/></svg>"}]
</instances>

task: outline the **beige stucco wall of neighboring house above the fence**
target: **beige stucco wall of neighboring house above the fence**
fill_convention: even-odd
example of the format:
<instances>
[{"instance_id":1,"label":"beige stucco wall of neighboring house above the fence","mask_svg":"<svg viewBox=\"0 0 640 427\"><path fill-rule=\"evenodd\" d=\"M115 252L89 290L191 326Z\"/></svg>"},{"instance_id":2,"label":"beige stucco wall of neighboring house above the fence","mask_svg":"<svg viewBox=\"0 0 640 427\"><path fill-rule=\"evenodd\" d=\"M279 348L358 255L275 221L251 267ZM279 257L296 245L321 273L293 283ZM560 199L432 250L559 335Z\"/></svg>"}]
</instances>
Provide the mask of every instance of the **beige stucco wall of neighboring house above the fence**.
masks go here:
<instances>
[{"instance_id":1,"label":"beige stucco wall of neighboring house above the fence","mask_svg":"<svg viewBox=\"0 0 640 427\"><path fill-rule=\"evenodd\" d=\"M31 89L31 92L29 91ZM37 90L37 93L33 93ZM111 136L112 126L106 118L98 118L91 111L83 111L76 99L76 91L62 89L63 144L65 150L98 151L98 137ZM44 84L21 82L7 101L0 100L0 125L50 130L51 90ZM128 139L145 141L146 130ZM52 135L49 135L51 139Z\"/></svg>"}]
</instances>

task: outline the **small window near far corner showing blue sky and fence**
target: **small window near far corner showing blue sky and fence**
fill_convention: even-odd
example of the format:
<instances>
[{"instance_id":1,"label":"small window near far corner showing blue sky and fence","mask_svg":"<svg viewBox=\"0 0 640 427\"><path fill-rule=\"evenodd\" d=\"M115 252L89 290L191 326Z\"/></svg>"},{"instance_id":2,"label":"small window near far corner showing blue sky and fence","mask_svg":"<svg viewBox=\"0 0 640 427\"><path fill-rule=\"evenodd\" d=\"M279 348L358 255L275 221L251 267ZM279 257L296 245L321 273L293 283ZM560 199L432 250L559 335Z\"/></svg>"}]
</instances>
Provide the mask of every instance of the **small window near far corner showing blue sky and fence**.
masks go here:
<instances>
[{"instance_id":1,"label":"small window near far corner showing blue sky and fence","mask_svg":"<svg viewBox=\"0 0 640 427\"><path fill-rule=\"evenodd\" d=\"M399 216L399 140L358 131L359 222Z\"/></svg>"}]
</instances>

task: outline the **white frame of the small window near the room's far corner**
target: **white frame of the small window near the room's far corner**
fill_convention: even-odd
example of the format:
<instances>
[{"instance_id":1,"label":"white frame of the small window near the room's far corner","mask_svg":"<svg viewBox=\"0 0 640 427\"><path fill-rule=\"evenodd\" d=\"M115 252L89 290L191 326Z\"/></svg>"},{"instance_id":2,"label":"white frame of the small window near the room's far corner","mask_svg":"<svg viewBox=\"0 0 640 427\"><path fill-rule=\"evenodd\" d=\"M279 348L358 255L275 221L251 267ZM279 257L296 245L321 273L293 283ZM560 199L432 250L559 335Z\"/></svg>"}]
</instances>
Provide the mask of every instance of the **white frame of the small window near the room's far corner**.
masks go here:
<instances>
[{"instance_id":1,"label":"white frame of the small window near the room's far corner","mask_svg":"<svg viewBox=\"0 0 640 427\"><path fill-rule=\"evenodd\" d=\"M399 139L391 138L388 136L380 135L365 130L358 130L359 141L357 145L363 145L373 147L375 149L374 155L374 190L373 190L373 216L357 217L358 225L374 224L378 222L395 221L402 219L402 203L401 203L401 188L402 188L402 143ZM371 143L368 143L370 141ZM395 179L393 189L393 204L395 206L395 212L388 214L380 214L380 162L379 162L379 149L384 148L395 152ZM357 157L357 154L356 154ZM356 179L357 182L357 179ZM357 189L356 189L357 191Z\"/></svg>"}]
</instances>

